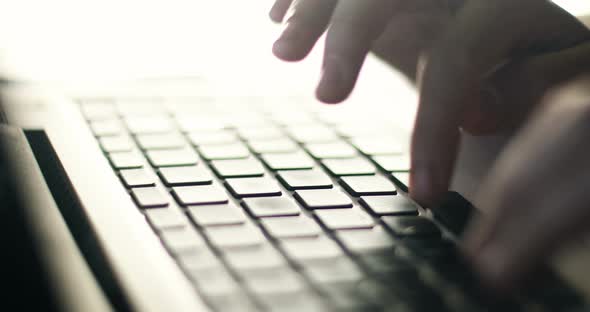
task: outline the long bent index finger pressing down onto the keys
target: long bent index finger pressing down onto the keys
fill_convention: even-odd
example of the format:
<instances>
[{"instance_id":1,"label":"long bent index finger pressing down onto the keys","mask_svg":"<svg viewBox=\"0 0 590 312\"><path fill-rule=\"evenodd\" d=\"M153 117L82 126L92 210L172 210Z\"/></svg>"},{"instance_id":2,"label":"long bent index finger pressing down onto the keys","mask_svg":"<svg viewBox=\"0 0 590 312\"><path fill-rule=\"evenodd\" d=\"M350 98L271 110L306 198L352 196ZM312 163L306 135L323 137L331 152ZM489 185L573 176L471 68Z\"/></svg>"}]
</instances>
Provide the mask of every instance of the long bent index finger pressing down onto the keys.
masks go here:
<instances>
[{"instance_id":1,"label":"long bent index finger pressing down onto the keys","mask_svg":"<svg viewBox=\"0 0 590 312\"><path fill-rule=\"evenodd\" d=\"M544 23L538 23L539 19ZM417 201L428 206L448 188L459 126L470 105L466 96L512 55L579 42L569 35L562 38L561 32L556 35L557 27L575 35L587 32L573 17L544 1L470 1L459 11L455 23L432 49L422 79L410 179L411 195ZM530 42L537 45L533 48Z\"/></svg>"}]
</instances>

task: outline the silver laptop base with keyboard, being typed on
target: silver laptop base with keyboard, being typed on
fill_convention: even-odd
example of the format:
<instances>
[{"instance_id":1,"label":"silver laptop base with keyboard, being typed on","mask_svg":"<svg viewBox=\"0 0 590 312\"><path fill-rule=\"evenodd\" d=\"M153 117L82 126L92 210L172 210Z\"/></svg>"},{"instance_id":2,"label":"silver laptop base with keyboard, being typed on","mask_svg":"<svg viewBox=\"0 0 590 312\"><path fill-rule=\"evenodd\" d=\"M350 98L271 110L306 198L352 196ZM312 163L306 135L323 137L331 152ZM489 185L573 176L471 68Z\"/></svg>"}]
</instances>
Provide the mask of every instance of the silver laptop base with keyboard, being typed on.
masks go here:
<instances>
[{"instance_id":1,"label":"silver laptop base with keyboard, being typed on","mask_svg":"<svg viewBox=\"0 0 590 312\"><path fill-rule=\"evenodd\" d=\"M15 281L45 292L20 305L590 309L580 255L509 297L481 289L458 240L481 213L468 198L485 166L461 159L440 207L409 198L411 117L369 105L400 94L322 106L209 78L2 83L2 228L21 238Z\"/></svg>"}]
</instances>

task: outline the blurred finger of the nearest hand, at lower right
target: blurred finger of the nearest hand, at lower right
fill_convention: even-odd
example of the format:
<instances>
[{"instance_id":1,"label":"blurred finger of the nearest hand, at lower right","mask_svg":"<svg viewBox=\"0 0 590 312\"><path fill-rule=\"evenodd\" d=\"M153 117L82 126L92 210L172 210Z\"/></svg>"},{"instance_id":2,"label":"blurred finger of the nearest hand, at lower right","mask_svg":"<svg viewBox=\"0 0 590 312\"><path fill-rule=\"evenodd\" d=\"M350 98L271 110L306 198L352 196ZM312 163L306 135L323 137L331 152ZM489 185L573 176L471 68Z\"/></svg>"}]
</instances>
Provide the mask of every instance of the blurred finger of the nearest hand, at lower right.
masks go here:
<instances>
[{"instance_id":1,"label":"blurred finger of the nearest hand, at lower right","mask_svg":"<svg viewBox=\"0 0 590 312\"><path fill-rule=\"evenodd\" d=\"M515 286L539 259L590 225L589 95L560 97L559 105L538 114L508 146L477 197L492 213L470 227L466 246L496 288ZM551 187L539 190L539 181Z\"/></svg>"}]
</instances>

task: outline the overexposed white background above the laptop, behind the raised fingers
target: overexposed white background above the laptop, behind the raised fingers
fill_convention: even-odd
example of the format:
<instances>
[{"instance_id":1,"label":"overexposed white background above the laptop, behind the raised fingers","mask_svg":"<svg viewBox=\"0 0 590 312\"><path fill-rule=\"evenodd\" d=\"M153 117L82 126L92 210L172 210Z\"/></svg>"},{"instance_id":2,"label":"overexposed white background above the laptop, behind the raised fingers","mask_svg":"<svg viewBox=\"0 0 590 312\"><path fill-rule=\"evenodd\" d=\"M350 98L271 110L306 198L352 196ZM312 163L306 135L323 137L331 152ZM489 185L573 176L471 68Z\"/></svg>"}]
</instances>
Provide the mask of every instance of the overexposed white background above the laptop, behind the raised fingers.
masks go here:
<instances>
[{"instance_id":1,"label":"overexposed white background above the laptop, behind the raised fingers","mask_svg":"<svg viewBox=\"0 0 590 312\"><path fill-rule=\"evenodd\" d=\"M590 1L557 2L575 14L590 12ZM281 26L267 17L272 3L0 0L0 76L53 82L198 76L220 92L311 95L321 44L300 64L275 59L271 45ZM374 58L352 100L369 96L415 102L410 85ZM411 113L413 105L401 107Z\"/></svg>"}]
</instances>

